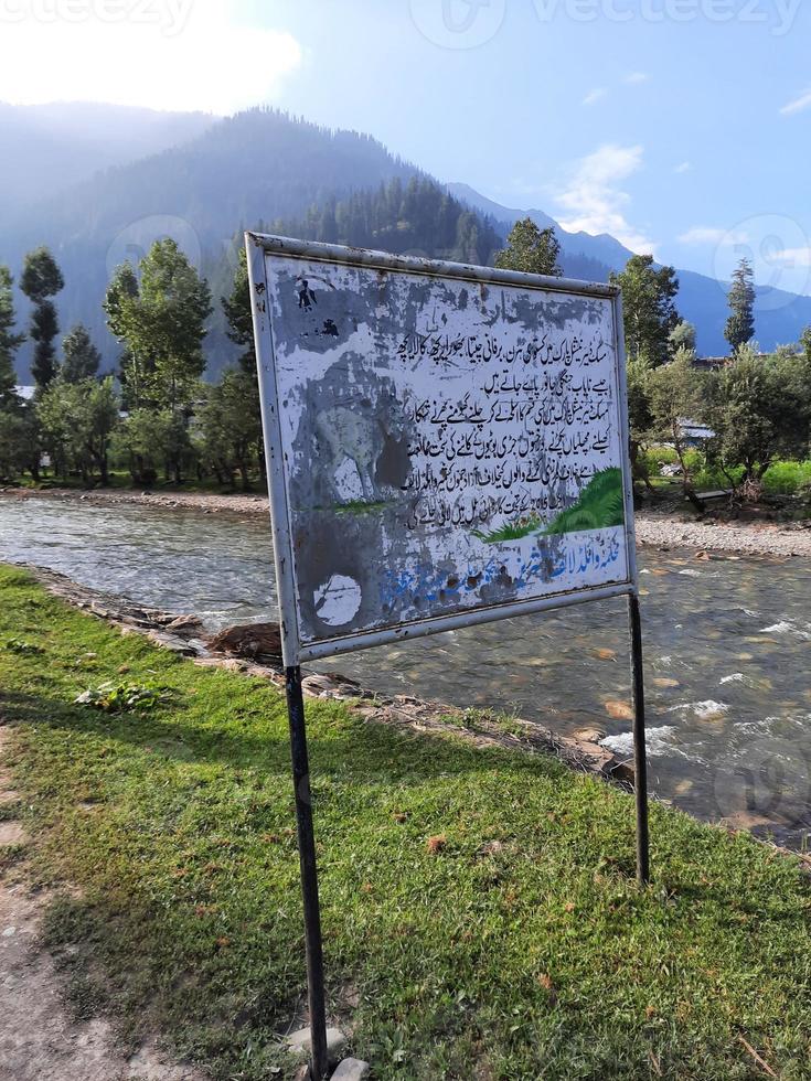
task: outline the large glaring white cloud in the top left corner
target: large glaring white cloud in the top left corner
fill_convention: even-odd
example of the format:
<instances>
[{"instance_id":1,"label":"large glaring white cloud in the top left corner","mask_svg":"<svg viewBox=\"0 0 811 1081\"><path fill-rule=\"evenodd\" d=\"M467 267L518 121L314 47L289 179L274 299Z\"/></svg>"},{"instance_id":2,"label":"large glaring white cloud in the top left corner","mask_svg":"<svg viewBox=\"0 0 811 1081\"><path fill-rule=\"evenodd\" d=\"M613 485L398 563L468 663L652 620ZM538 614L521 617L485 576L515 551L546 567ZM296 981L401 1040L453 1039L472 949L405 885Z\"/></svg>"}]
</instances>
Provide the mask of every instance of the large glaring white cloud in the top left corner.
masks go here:
<instances>
[{"instance_id":1,"label":"large glaring white cloud in the top left corner","mask_svg":"<svg viewBox=\"0 0 811 1081\"><path fill-rule=\"evenodd\" d=\"M290 34L238 23L235 7L234 0L20 2L0 28L0 99L217 114L270 100L301 63L301 49Z\"/></svg>"}]
</instances>

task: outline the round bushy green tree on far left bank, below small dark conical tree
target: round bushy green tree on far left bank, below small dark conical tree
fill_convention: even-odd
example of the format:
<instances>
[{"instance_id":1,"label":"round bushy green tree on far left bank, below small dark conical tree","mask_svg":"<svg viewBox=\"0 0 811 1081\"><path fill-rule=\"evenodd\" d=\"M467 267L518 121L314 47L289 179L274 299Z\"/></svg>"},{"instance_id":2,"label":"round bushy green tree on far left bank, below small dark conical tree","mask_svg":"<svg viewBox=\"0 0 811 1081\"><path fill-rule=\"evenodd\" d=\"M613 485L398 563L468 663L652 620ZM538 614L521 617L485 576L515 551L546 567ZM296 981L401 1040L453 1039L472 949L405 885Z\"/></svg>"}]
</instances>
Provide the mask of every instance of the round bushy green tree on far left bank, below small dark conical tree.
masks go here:
<instances>
[{"instance_id":1,"label":"round bushy green tree on far left bank, below small dark conical tree","mask_svg":"<svg viewBox=\"0 0 811 1081\"><path fill-rule=\"evenodd\" d=\"M90 485L95 470L102 484L109 483L108 452L118 405L111 376L100 383L68 383L60 376L42 393L36 415L43 441L63 475L73 470Z\"/></svg>"}]
</instances>

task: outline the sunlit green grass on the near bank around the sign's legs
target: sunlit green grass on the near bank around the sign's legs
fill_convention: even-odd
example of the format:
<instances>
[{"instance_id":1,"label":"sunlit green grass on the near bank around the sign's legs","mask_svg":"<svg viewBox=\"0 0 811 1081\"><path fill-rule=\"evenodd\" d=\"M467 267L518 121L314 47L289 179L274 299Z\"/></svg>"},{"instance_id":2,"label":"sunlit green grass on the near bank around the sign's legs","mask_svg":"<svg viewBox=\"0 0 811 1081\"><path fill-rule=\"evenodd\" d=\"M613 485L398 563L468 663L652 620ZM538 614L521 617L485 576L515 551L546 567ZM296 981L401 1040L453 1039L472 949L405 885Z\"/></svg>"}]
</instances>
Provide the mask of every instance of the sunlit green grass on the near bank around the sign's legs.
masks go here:
<instances>
[{"instance_id":1,"label":"sunlit green grass on the near bank around the sign's legs","mask_svg":"<svg viewBox=\"0 0 811 1081\"><path fill-rule=\"evenodd\" d=\"M121 638L17 569L0 636L45 651L0 650L0 709L25 873L78 887L47 920L74 1008L131 1042L159 1028L223 1081L289 1075L276 1037L305 978L280 695ZM75 703L125 676L171 698ZM740 1037L783 1081L811 1078L798 861L654 806L640 891L620 791L342 704L308 716L330 1012L375 1078L762 1078Z\"/></svg>"}]
</instances>

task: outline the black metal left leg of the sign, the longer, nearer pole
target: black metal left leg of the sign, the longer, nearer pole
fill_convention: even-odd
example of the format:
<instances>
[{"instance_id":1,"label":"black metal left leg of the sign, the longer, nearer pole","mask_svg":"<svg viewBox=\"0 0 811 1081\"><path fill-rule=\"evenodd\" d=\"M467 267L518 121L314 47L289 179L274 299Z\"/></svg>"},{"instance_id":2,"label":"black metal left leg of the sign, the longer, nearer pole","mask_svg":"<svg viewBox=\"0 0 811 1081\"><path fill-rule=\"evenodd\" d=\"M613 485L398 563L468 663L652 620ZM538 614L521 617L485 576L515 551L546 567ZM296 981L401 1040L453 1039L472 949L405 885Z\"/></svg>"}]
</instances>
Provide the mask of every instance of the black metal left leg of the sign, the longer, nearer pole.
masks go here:
<instances>
[{"instance_id":1,"label":"black metal left leg of the sign, the longer, nearer pole","mask_svg":"<svg viewBox=\"0 0 811 1081\"><path fill-rule=\"evenodd\" d=\"M301 867L301 895L305 902L305 944L307 949L307 992L310 1008L310 1047L313 1081L327 1077L327 1007L323 986L321 913L318 903L316 836L312 830L310 766L307 754L305 699L299 665L285 670L287 711L290 719L290 752L296 790L296 825Z\"/></svg>"}]
</instances>

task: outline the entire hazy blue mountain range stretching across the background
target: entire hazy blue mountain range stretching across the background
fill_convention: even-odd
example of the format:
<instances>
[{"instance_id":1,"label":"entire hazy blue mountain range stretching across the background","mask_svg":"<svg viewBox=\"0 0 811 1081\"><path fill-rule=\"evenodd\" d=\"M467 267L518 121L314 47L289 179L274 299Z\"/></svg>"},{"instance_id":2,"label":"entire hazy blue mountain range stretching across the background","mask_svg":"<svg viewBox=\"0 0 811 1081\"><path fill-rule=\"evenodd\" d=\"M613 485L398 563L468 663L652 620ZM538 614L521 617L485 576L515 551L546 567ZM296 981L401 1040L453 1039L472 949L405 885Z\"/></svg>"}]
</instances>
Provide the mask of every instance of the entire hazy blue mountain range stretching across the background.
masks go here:
<instances>
[{"instance_id":1,"label":"entire hazy blue mountain range stretching across the background","mask_svg":"<svg viewBox=\"0 0 811 1081\"><path fill-rule=\"evenodd\" d=\"M541 210L502 206L466 184L440 185L370 136L326 129L267 108L223 119L114 106L26 110L0 105L0 159L13 159L0 172L0 194L6 193L7 208L13 207L6 216L0 211L0 261L19 277L25 251L47 244L66 281L57 297L62 333L84 322L108 366L118 355L102 310L109 275L125 259L137 261L160 236L174 236L209 278L217 309L220 295L230 289L244 228L296 228L339 240L362 236L381 247L439 255L448 250L440 237L452 234L451 248L470 248L491 261L512 224L529 213L557 229L569 277L605 280L631 255L609 235L567 233ZM407 193L415 176L425 182L416 201L404 195L399 207L387 210L385 200L370 202L395 180ZM433 188L447 193L447 206L437 203ZM335 205L343 205L353 222L351 227L343 223L343 234L329 221ZM372 212L381 217L381 205L383 217L374 227L362 221ZM462 216L467 208L480 223L472 239L473 225ZM431 221L441 227L434 228ZM485 253L488 247L492 250ZM679 308L696 324L700 350L723 353L725 286L691 271L679 276ZM28 310L18 298L21 328ZM758 339L764 349L772 349L798 340L811 324L811 298L759 290L757 315ZM207 343L211 374L235 357L223 331L217 310ZM23 383L29 382L29 356L30 343L20 352Z\"/></svg>"}]
</instances>

